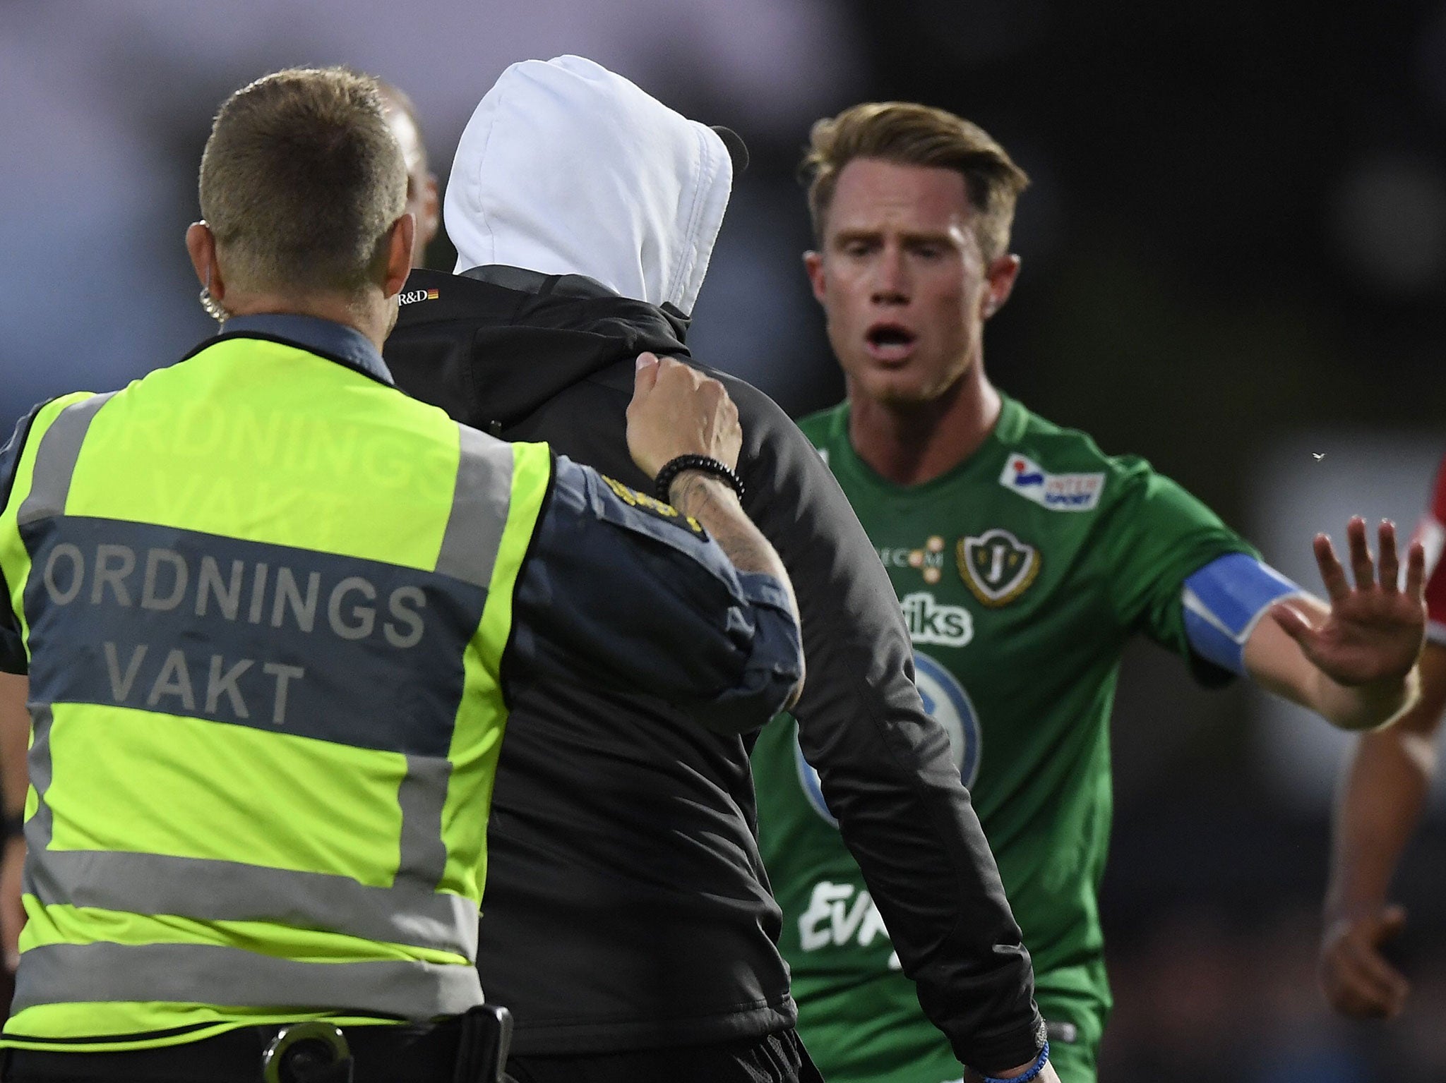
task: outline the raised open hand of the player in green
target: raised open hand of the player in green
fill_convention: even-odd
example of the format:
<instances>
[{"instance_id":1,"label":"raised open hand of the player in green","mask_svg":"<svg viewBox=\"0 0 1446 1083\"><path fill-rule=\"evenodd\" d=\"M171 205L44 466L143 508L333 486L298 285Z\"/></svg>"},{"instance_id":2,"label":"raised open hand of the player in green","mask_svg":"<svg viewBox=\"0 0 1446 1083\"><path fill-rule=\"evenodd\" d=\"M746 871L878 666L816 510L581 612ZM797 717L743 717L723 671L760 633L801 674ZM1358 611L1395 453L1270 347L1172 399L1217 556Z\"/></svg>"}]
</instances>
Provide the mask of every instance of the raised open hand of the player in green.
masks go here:
<instances>
[{"instance_id":1,"label":"raised open hand of the player in green","mask_svg":"<svg viewBox=\"0 0 1446 1083\"><path fill-rule=\"evenodd\" d=\"M1346 524L1346 542L1355 586L1346 579L1330 539L1316 534L1316 563L1330 604L1323 618L1312 621L1310 611L1293 599L1274 605L1270 615L1338 684L1398 682L1416 666L1426 643L1426 552L1420 542L1411 543L1403 589L1392 523L1381 521L1379 573L1359 516Z\"/></svg>"}]
</instances>

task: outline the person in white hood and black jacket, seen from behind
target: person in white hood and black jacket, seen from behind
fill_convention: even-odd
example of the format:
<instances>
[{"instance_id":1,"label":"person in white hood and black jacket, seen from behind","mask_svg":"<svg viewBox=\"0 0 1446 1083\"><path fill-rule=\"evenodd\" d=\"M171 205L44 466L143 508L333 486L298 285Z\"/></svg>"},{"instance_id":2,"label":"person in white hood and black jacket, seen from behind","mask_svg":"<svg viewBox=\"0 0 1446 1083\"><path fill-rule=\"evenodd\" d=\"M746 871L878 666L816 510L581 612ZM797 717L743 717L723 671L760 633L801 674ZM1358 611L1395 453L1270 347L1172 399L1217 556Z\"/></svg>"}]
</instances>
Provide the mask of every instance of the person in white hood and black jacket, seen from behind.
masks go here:
<instances>
[{"instance_id":1,"label":"person in white hood and black jacket, seen from behind","mask_svg":"<svg viewBox=\"0 0 1446 1083\"><path fill-rule=\"evenodd\" d=\"M414 271L403 293L386 344L398 384L505 439L547 439L619 491L649 490L623 438L635 358L688 358L733 169L726 137L591 61L513 65L453 163L457 274ZM1018 1074L1044 1043L1030 956L914 687L888 576L792 422L704 371L737 404L743 505L798 595L808 676L794 713L829 809L928 1017L972 1069ZM750 741L594 676L512 686L477 949L489 998L516 1019L509 1071L816 1077L775 946Z\"/></svg>"}]
</instances>

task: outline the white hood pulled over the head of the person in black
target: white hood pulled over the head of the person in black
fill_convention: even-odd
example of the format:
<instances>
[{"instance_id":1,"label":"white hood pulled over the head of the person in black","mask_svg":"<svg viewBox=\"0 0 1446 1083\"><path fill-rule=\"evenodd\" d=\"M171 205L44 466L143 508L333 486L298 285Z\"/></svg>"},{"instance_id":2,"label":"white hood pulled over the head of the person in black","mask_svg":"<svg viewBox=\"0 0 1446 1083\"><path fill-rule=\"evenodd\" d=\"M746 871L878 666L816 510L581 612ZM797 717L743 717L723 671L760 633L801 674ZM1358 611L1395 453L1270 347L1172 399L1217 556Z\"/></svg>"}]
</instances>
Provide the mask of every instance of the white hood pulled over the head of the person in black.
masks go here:
<instances>
[{"instance_id":1,"label":"white hood pulled over the head of the person in black","mask_svg":"<svg viewBox=\"0 0 1446 1083\"><path fill-rule=\"evenodd\" d=\"M457 271L586 274L688 313L733 163L713 129L581 56L508 68L463 131L444 218Z\"/></svg>"}]
</instances>

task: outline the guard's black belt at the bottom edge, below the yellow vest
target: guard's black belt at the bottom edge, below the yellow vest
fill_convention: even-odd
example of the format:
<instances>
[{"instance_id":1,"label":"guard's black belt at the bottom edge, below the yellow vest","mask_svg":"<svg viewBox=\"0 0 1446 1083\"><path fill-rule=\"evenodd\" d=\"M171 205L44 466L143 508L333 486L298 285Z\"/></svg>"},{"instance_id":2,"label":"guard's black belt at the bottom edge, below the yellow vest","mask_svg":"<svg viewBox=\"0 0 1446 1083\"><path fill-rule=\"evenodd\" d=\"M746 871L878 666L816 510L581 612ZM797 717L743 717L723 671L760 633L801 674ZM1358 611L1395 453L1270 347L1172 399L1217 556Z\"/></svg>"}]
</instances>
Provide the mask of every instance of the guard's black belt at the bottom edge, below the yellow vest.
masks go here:
<instances>
[{"instance_id":1,"label":"guard's black belt at the bottom edge, below the yellow vest","mask_svg":"<svg viewBox=\"0 0 1446 1083\"><path fill-rule=\"evenodd\" d=\"M477 1035L470 1031L479 1022L469 1014L435 1025L350 1027L344 1034L356 1063L354 1083L453 1083L458 1058L476 1056L471 1047ZM124 1053L9 1050L4 1079L260 1083L262 1057L283 1030L240 1027L181 1045ZM482 1083L486 1076L479 1071L474 1079Z\"/></svg>"}]
</instances>

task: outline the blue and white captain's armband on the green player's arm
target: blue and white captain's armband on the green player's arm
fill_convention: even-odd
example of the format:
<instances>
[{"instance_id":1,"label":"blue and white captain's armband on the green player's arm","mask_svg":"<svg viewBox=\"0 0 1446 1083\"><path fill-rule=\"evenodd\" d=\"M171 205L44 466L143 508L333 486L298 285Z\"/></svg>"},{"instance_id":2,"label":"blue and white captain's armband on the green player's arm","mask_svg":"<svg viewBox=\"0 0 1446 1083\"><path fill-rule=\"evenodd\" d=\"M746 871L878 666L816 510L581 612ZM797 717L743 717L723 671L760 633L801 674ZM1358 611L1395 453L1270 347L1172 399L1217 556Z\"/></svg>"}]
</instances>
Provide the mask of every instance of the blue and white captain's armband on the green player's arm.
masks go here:
<instances>
[{"instance_id":1,"label":"blue and white captain's armband on the green player's arm","mask_svg":"<svg viewBox=\"0 0 1446 1083\"><path fill-rule=\"evenodd\" d=\"M1206 661L1245 676L1245 644L1272 602L1304 593L1248 553L1216 557L1184 580L1184 634Z\"/></svg>"}]
</instances>

